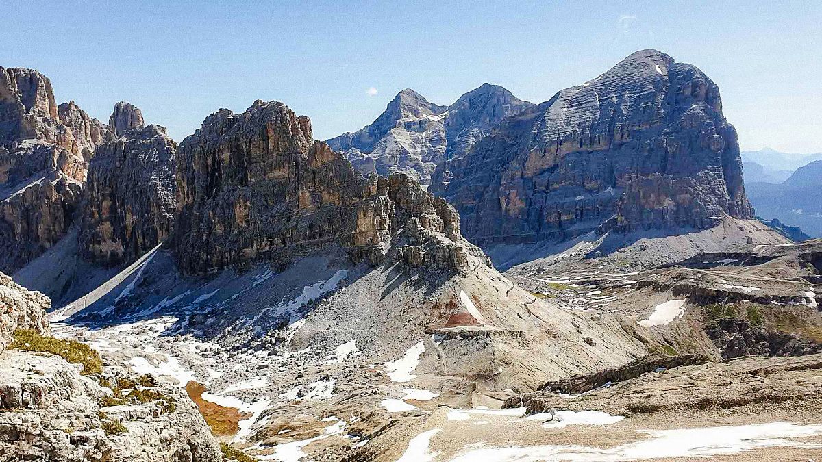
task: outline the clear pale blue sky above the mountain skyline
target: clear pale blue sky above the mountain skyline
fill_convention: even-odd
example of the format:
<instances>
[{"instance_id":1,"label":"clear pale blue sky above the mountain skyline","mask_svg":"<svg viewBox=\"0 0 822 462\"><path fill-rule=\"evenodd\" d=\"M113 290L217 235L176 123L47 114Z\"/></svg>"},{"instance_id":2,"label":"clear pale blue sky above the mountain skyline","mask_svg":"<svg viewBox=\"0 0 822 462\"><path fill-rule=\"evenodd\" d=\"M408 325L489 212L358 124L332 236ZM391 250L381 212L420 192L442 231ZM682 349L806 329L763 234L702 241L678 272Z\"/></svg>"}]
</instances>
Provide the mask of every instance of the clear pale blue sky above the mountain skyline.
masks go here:
<instances>
[{"instance_id":1,"label":"clear pale blue sky above the mountain skyline","mask_svg":"<svg viewBox=\"0 0 822 462\"><path fill-rule=\"evenodd\" d=\"M406 87L450 104L487 81L538 103L654 48L717 82L743 149L822 151L820 2L512 3L2 0L0 66L104 121L130 101L178 141L254 99L323 139Z\"/></svg>"}]
</instances>

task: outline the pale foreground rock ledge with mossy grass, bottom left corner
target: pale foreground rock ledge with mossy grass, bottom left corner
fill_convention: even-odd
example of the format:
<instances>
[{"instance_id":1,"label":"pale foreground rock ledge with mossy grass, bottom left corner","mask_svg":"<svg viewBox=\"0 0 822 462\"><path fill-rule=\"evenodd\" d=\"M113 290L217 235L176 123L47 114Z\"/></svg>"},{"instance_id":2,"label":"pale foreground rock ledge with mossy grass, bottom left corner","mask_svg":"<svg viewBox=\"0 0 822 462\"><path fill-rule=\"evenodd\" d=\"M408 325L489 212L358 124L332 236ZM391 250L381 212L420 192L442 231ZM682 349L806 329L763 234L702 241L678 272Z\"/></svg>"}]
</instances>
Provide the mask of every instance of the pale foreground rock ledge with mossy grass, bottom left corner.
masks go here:
<instances>
[{"instance_id":1,"label":"pale foreground rock ledge with mossy grass, bottom left corner","mask_svg":"<svg viewBox=\"0 0 822 462\"><path fill-rule=\"evenodd\" d=\"M223 460L181 390L48 336L49 306L0 273L0 462Z\"/></svg>"}]
</instances>

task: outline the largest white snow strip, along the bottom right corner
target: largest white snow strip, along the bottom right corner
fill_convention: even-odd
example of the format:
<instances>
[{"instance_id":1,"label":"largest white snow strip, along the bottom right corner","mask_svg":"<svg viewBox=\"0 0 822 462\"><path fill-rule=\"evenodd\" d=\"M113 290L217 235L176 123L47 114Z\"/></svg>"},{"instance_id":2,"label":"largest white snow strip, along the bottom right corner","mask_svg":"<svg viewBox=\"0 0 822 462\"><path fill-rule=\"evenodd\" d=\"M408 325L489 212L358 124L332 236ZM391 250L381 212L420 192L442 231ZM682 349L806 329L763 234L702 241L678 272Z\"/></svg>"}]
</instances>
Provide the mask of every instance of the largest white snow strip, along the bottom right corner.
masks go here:
<instances>
[{"instance_id":1,"label":"largest white snow strip, along the bottom right corner","mask_svg":"<svg viewBox=\"0 0 822 462\"><path fill-rule=\"evenodd\" d=\"M644 430L642 441L602 449L589 446L466 446L451 462L537 462L575 460L581 462L648 460L676 457L710 457L737 454L760 447L792 446L822 449L822 445L792 441L822 433L822 425L792 422L761 423L739 427L677 428ZM482 443L480 443L482 444Z\"/></svg>"}]
</instances>

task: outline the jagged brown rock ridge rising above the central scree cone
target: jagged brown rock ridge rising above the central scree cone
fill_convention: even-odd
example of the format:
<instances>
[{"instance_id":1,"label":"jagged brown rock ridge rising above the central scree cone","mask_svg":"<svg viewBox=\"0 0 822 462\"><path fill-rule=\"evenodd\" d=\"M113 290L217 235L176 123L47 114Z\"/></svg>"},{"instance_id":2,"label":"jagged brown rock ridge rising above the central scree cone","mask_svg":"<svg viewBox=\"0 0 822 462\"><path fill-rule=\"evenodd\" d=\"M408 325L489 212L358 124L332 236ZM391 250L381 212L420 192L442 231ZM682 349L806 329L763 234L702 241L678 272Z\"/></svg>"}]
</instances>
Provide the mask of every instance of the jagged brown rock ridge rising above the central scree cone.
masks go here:
<instances>
[{"instance_id":1,"label":"jagged brown rock ridge rising above the central scree cone","mask_svg":"<svg viewBox=\"0 0 822 462\"><path fill-rule=\"evenodd\" d=\"M459 217L404 175L363 178L313 141L311 122L282 103L220 109L178 151L173 245L179 266L205 273L261 258L286 262L330 245L381 263L392 245L412 264L467 269ZM403 227L404 232L396 236Z\"/></svg>"}]
</instances>

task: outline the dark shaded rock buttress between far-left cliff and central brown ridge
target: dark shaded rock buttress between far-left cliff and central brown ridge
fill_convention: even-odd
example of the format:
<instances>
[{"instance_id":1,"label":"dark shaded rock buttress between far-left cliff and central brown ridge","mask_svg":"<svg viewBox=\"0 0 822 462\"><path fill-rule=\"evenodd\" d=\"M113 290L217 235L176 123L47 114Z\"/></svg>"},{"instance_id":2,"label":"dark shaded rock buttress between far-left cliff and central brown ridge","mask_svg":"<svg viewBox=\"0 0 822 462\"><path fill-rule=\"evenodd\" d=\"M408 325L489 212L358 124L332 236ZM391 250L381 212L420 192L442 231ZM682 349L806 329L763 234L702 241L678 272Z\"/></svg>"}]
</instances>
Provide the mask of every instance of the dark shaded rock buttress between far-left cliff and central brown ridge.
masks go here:
<instances>
[{"instance_id":1,"label":"dark shaded rock buttress between far-left cliff and central brown ridge","mask_svg":"<svg viewBox=\"0 0 822 462\"><path fill-rule=\"evenodd\" d=\"M86 260L104 266L131 262L169 236L176 168L177 143L159 125L124 132L97 148L80 233Z\"/></svg>"}]
</instances>

